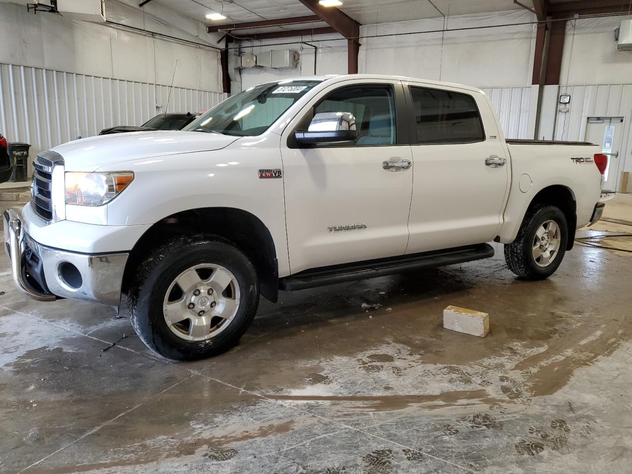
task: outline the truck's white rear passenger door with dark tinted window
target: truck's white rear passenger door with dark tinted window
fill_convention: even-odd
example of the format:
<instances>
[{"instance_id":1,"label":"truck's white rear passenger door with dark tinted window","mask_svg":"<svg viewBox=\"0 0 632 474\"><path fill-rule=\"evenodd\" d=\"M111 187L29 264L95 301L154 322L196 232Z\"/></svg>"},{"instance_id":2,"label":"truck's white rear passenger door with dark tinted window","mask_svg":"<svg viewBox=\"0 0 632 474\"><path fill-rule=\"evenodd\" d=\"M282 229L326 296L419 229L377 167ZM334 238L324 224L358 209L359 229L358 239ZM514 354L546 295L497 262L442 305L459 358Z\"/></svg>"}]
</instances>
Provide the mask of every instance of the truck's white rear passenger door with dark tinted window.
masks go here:
<instances>
[{"instance_id":1,"label":"truck's white rear passenger door with dark tinted window","mask_svg":"<svg viewBox=\"0 0 632 474\"><path fill-rule=\"evenodd\" d=\"M406 253L491 241L509 190L509 160L485 95L407 83L413 198Z\"/></svg>"}]
</instances>

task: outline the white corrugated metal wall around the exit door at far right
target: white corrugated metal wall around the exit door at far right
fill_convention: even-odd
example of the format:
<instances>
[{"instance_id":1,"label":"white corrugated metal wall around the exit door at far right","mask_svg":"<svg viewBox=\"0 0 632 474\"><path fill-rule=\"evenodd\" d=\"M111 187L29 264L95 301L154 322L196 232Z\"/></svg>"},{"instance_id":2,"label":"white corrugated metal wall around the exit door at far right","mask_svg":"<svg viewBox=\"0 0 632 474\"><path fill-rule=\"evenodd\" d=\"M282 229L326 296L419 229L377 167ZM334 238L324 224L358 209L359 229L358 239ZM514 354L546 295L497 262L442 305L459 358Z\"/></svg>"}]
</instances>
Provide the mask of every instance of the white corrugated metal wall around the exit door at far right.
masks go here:
<instances>
[{"instance_id":1,"label":"white corrugated metal wall around the exit door at far right","mask_svg":"<svg viewBox=\"0 0 632 474\"><path fill-rule=\"evenodd\" d=\"M570 95L571 102L568 112L560 112L558 107L556 140L585 140L588 117L623 117L624 135L615 170L618 186L620 172L629 169L632 161L632 84L562 85L559 94Z\"/></svg>"}]
</instances>

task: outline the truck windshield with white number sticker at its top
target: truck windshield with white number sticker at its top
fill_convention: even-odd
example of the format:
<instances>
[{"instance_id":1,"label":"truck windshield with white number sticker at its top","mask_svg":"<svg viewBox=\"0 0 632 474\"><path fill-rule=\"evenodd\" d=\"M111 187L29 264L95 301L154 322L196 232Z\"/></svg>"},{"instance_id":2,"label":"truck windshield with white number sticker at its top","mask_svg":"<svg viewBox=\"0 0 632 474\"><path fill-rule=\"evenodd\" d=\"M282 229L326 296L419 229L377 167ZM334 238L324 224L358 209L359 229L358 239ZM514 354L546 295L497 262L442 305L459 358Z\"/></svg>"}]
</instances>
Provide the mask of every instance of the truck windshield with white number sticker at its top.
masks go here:
<instances>
[{"instance_id":1,"label":"truck windshield with white number sticker at its top","mask_svg":"<svg viewBox=\"0 0 632 474\"><path fill-rule=\"evenodd\" d=\"M261 135L320 81L281 81L255 85L229 97L186 127L188 131L237 137Z\"/></svg>"}]
</instances>

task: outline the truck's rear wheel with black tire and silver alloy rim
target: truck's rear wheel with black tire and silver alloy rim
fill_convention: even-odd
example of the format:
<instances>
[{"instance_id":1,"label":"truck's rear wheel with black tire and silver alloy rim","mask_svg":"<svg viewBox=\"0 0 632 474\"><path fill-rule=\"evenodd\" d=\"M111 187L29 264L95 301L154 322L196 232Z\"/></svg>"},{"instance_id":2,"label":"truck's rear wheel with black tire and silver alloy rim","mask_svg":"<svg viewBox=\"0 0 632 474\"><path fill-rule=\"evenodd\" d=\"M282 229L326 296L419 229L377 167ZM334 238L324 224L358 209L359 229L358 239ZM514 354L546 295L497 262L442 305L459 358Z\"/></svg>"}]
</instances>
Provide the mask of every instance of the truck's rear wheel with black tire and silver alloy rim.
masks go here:
<instances>
[{"instance_id":1,"label":"truck's rear wheel with black tire and silver alloy rim","mask_svg":"<svg viewBox=\"0 0 632 474\"><path fill-rule=\"evenodd\" d=\"M562 263L568 242L564 213L552 205L538 205L528 212L516 240L505 244L505 261L519 277L541 280Z\"/></svg>"}]
</instances>

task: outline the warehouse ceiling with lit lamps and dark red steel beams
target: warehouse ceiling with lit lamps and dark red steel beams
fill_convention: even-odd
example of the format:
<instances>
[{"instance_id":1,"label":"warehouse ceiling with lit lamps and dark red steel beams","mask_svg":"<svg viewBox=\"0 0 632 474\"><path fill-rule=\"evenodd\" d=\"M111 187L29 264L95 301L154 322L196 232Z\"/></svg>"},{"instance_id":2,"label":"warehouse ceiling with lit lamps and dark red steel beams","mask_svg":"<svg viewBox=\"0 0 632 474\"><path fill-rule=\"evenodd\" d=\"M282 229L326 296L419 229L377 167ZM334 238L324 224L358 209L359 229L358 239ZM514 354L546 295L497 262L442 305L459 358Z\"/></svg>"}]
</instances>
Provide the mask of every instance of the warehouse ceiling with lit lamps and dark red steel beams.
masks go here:
<instances>
[{"instance_id":1,"label":"warehouse ceiling with lit lamps and dark red steel beams","mask_svg":"<svg viewBox=\"0 0 632 474\"><path fill-rule=\"evenodd\" d=\"M544 21L547 16L573 16L574 13L628 13L632 0L341 0L343 4L337 8L322 8L317 0L145 0L143 4L149 1L161 3L195 20L205 21L209 32L230 32L233 37L241 39L272 39L334 32L347 38L357 35L341 29L340 24L338 27L334 25L335 18L340 20L340 12L344 13L343 23L351 21L355 25L523 8L533 11L538 20ZM307 4L317 8L310 9ZM209 13L220 13L226 19L207 20ZM325 15L329 17L329 24L319 19L319 16L325 19ZM288 20L274 21L281 18ZM253 25L252 22L258 24Z\"/></svg>"}]
</instances>

